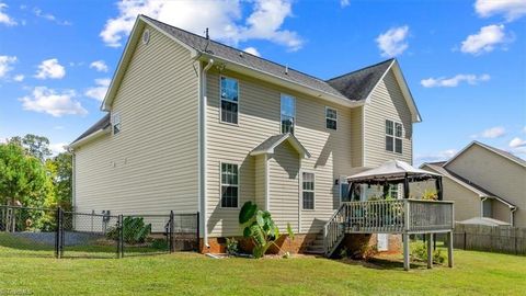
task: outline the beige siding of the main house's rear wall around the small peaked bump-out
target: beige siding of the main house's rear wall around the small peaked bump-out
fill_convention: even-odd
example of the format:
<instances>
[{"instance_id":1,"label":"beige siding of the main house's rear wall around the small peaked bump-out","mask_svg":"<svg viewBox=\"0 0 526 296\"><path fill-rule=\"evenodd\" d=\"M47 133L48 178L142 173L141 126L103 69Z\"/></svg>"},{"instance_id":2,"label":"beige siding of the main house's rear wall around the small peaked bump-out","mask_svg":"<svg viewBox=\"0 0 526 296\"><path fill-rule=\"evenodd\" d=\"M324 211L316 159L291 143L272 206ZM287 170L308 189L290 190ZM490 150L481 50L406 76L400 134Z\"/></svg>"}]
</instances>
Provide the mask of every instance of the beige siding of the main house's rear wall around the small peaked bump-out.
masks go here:
<instances>
[{"instance_id":1,"label":"beige siding of the main house's rear wall around the small peaked bump-out","mask_svg":"<svg viewBox=\"0 0 526 296\"><path fill-rule=\"evenodd\" d=\"M315 216L320 220L329 218L335 207L334 200L336 200L333 196L334 179L340 174L348 175L352 169L351 111L348 107L327 103L318 98L289 91L228 70L222 73L239 79L239 124L219 122L219 73L216 68L213 68L207 76L207 198L210 236L240 235L237 220L239 210L222 209L218 206L218 163L236 161L241 164L240 205L249 200L254 201L256 196L255 158L249 153L268 137L281 133L281 93L296 98L296 136L312 155L310 159L302 160L302 168L315 171L317 179L317 209L310 218L315 219L312 218ZM338 130L325 128L325 106L338 110ZM335 162L338 164L334 164ZM272 183L270 186L272 190ZM289 203L290 208L284 209L285 212L295 210L297 213L298 196L299 192L295 195L295 203ZM291 208L293 204L294 208ZM271 205L272 213L274 209ZM297 217L290 223L297 224ZM309 229L311 223L305 221L305 230Z\"/></svg>"}]
</instances>

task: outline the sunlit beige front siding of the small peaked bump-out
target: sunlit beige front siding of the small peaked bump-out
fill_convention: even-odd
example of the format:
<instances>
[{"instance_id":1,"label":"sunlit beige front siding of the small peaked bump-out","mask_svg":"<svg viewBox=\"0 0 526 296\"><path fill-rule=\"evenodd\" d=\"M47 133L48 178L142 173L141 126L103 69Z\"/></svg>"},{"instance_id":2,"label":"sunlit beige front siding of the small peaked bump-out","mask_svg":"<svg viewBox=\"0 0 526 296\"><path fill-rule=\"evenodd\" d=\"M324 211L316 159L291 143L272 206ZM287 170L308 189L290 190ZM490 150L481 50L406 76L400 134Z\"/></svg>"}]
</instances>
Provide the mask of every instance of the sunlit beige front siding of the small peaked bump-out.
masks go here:
<instances>
[{"instance_id":1,"label":"sunlit beige front siding of the small peaked bump-out","mask_svg":"<svg viewBox=\"0 0 526 296\"><path fill-rule=\"evenodd\" d=\"M299 153L288 141L276 147L268 160L271 214L282 231L287 223L296 231L299 229Z\"/></svg>"}]
</instances>

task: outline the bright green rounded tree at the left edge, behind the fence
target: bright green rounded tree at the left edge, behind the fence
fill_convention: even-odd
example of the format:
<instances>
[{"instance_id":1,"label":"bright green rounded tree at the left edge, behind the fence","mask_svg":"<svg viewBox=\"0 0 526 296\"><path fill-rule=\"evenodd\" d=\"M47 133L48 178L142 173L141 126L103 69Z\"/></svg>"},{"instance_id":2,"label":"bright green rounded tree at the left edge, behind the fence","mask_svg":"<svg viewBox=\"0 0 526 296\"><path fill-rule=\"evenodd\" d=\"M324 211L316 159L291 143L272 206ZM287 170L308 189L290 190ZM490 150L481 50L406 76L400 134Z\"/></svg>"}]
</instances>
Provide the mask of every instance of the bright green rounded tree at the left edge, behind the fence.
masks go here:
<instances>
[{"instance_id":1,"label":"bright green rounded tree at the left edge, behind the fence","mask_svg":"<svg viewBox=\"0 0 526 296\"><path fill-rule=\"evenodd\" d=\"M49 194L44 164L15 144L0 145L0 203L39 206Z\"/></svg>"}]
</instances>

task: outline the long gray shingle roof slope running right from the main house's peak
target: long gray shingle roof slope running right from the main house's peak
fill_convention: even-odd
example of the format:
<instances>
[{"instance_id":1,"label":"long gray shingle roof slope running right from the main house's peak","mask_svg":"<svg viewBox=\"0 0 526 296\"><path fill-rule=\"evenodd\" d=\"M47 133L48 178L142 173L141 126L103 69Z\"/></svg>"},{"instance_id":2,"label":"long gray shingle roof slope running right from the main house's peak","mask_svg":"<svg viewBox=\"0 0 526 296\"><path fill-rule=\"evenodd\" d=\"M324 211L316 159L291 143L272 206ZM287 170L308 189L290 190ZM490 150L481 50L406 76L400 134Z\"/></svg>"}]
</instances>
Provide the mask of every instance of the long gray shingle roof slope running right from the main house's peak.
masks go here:
<instances>
[{"instance_id":1,"label":"long gray shingle roof slope running right from the main house's peak","mask_svg":"<svg viewBox=\"0 0 526 296\"><path fill-rule=\"evenodd\" d=\"M289 80L289 81L293 81L293 82L296 82L296 83L300 83L300 84L304 84L304 86L307 86L307 87L310 87L310 88L330 93L332 95L340 96L342 99L351 99L353 101L356 101L356 100L352 99L352 98L354 98L354 95L353 96L345 95L345 93L342 93L339 88L335 88L334 86L332 86L332 83L330 83L328 81L323 81L322 79L316 78L313 76L310 76L310 75L307 75L307 73L304 73L304 72L300 72L300 71L297 71L297 70L294 70L291 68L288 68L288 73L286 73L285 72L285 66L283 66L283 65L279 65L277 62L274 62L274 61L261 58L261 57L256 57L254 55L244 53L240 49L230 47L228 45L224 45L221 43L218 43L218 42L215 42L215 41L211 41L211 39L209 41L209 44L207 46L206 45L207 39L203 36L190 33L187 31L181 30L181 29L175 27L175 26L171 26L171 25L165 24L163 22L159 22L159 21L157 21L155 19L151 19L149 16L146 16L146 15L142 15L142 16L145 19L147 19L149 22L151 22L152 24L155 24L160 30L162 30L165 33L170 34L171 36L178 38L179 41L183 42L184 44L186 44L187 46L194 48L195 50L197 50L199 53L206 53L208 55L217 56L219 58L227 59L227 60L243 65L245 67L250 67L250 68L260 70L260 71L266 72L266 73L271 73L271 75L279 77L284 80ZM242 53L242 55L240 53ZM379 68L375 68L375 69L379 70ZM380 75L380 77L381 77L381 75ZM351 82L352 81L348 81L348 83L351 83ZM364 81L362 81L362 82L364 82ZM354 90L359 90L359 92L363 93L367 90L368 91L373 90L375 84L366 86L366 84L362 83L359 86L354 87L353 89ZM367 90L361 90L364 87L366 87Z\"/></svg>"}]
</instances>

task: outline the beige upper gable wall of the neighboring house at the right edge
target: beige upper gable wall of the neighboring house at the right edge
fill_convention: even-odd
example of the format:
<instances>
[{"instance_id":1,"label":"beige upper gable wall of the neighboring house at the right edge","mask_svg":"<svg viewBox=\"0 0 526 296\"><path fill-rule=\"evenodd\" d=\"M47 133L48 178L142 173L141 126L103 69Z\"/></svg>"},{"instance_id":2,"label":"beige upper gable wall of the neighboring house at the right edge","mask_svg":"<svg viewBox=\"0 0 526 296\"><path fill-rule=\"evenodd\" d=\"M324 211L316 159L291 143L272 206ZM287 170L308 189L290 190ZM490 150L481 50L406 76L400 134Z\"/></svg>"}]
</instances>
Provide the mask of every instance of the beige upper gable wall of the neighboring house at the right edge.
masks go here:
<instances>
[{"instance_id":1,"label":"beige upper gable wall of the neighboring house at the right edge","mask_svg":"<svg viewBox=\"0 0 526 296\"><path fill-rule=\"evenodd\" d=\"M472 145L447 169L515 204L515 225L526 227L526 168L479 145ZM507 219L508 220L508 219Z\"/></svg>"}]
</instances>

